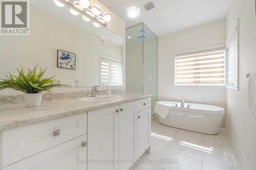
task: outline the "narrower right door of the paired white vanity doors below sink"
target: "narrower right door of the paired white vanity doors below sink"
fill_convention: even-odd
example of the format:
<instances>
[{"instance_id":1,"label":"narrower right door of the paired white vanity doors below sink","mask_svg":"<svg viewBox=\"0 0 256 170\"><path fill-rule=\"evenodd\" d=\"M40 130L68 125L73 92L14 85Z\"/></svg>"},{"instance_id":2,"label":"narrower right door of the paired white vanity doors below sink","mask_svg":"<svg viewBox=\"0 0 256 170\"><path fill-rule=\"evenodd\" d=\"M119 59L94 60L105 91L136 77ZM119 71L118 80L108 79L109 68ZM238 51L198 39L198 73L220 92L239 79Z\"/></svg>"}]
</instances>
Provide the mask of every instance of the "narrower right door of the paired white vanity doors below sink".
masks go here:
<instances>
[{"instance_id":1,"label":"narrower right door of the paired white vanity doors below sink","mask_svg":"<svg viewBox=\"0 0 256 170\"><path fill-rule=\"evenodd\" d=\"M119 159L136 159L137 107L136 102L120 105L119 113ZM133 164L119 163L119 169L129 169Z\"/></svg>"}]
</instances>

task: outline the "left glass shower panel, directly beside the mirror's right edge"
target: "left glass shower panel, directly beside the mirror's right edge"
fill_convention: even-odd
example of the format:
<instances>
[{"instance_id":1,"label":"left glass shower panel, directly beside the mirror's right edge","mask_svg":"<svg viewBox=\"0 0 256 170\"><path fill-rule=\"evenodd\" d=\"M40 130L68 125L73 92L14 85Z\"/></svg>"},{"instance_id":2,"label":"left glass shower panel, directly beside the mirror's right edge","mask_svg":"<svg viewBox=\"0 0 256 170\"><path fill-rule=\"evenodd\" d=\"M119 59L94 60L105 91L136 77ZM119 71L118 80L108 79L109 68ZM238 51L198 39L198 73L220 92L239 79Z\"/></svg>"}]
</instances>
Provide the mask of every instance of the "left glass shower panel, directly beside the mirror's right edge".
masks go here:
<instances>
[{"instance_id":1,"label":"left glass shower panel, directly beside the mirror's right edge","mask_svg":"<svg viewBox=\"0 0 256 170\"><path fill-rule=\"evenodd\" d=\"M143 24L126 30L126 92L143 93Z\"/></svg>"}]
</instances>

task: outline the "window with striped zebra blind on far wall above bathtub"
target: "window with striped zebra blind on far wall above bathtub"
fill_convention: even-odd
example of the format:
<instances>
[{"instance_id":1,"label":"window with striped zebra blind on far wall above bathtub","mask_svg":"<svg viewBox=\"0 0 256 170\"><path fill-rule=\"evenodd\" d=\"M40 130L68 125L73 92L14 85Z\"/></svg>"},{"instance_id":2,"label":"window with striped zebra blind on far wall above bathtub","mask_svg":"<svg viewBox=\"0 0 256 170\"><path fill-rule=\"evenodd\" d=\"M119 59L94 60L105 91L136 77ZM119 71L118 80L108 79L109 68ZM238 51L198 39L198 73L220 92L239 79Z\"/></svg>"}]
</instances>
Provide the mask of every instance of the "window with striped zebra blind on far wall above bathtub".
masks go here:
<instances>
[{"instance_id":1,"label":"window with striped zebra blind on far wall above bathtub","mask_svg":"<svg viewBox=\"0 0 256 170\"><path fill-rule=\"evenodd\" d=\"M225 47L176 54L175 85L225 85Z\"/></svg>"}]
</instances>

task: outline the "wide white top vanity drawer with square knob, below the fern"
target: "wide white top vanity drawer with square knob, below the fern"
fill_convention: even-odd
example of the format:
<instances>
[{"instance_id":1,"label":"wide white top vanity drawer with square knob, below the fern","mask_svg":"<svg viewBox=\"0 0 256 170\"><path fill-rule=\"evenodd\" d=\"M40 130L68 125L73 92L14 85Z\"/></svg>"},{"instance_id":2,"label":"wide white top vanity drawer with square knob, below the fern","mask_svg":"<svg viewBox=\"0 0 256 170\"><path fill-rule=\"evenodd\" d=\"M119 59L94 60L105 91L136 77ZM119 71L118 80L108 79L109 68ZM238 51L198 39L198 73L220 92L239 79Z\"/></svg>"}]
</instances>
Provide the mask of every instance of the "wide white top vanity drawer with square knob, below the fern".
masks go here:
<instances>
[{"instance_id":1,"label":"wide white top vanity drawer with square knob, below the fern","mask_svg":"<svg viewBox=\"0 0 256 170\"><path fill-rule=\"evenodd\" d=\"M87 113L3 132L3 166L87 134Z\"/></svg>"}]
</instances>

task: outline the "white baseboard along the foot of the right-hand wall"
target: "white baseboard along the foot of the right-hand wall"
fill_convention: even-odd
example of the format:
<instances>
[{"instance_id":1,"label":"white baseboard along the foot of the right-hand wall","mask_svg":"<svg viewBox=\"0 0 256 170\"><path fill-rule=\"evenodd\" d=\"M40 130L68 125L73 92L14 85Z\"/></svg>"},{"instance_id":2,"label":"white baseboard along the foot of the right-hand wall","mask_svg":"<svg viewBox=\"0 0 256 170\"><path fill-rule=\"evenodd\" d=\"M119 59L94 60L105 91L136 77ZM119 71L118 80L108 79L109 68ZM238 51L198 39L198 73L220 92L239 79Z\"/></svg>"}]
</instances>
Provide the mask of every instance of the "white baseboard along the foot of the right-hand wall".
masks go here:
<instances>
[{"instance_id":1,"label":"white baseboard along the foot of the right-hand wall","mask_svg":"<svg viewBox=\"0 0 256 170\"><path fill-rule=\"evenodd\" d=\"M248 162L246 161L246 159L245 159L245 157L244 157L243 152L241 151L241 149L240 149L240 147L239 147L239 145L238 145L237 140L234 138L234 136L233 136L232 132L230 131L230 129L229 129L229 127L228 127L227 124L226 124L226 129L227 129L227 132L228 132L228 134L229 134L229 136L230 136L230 138L231 138L231 141L232 141L232 143L233 143L233 145L234 145L234 148L235 148L236 151L238 152L238 155L239 155L239 157L240 157L240 159L241 159L241 161L242 161L242 163L243 163L243 165L244 165L245 170L251 170L251 168L250 168Z\"/></svg>"}]
</instances>

